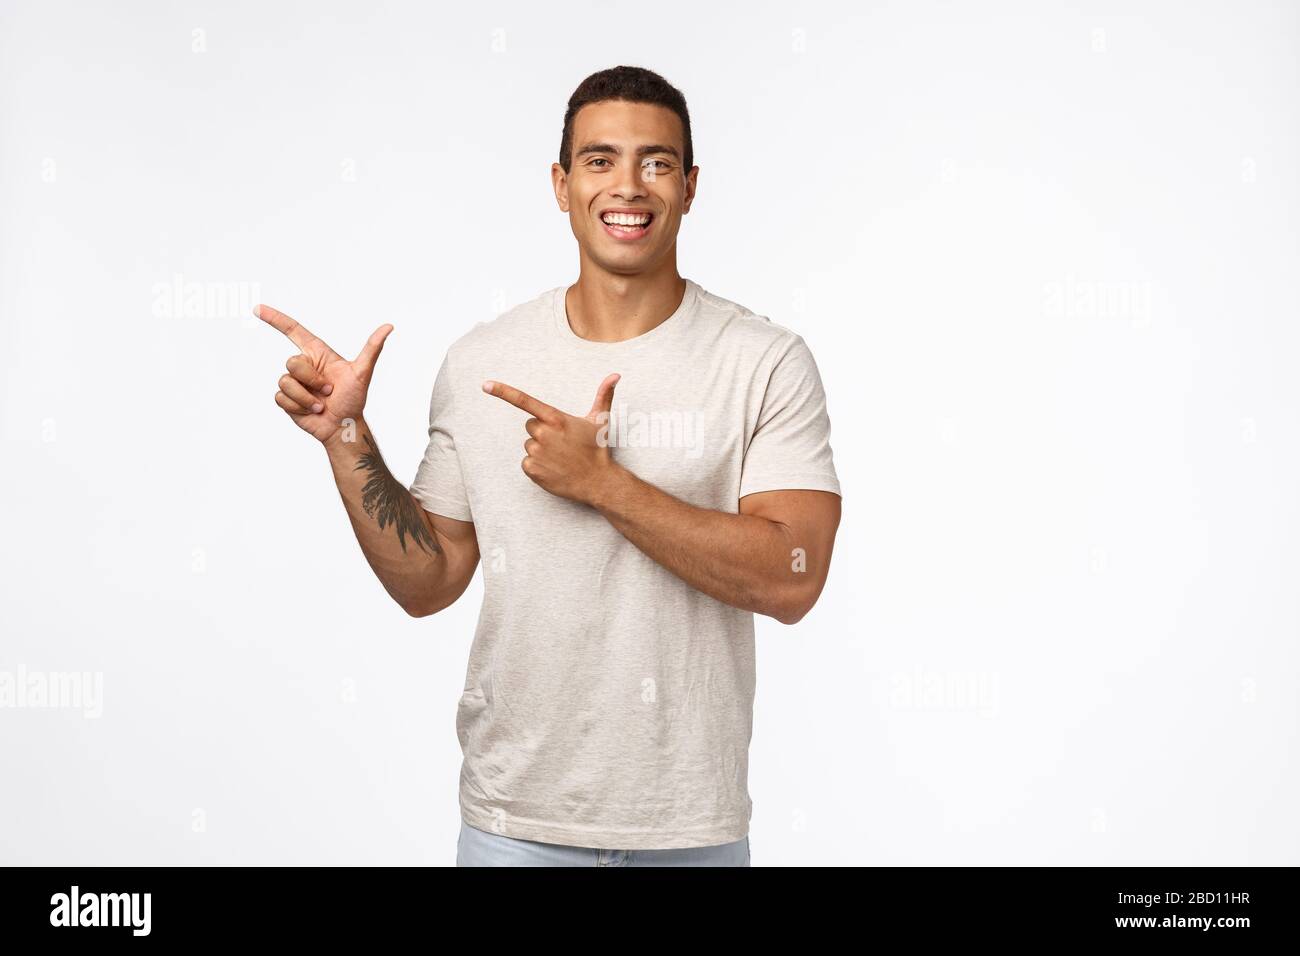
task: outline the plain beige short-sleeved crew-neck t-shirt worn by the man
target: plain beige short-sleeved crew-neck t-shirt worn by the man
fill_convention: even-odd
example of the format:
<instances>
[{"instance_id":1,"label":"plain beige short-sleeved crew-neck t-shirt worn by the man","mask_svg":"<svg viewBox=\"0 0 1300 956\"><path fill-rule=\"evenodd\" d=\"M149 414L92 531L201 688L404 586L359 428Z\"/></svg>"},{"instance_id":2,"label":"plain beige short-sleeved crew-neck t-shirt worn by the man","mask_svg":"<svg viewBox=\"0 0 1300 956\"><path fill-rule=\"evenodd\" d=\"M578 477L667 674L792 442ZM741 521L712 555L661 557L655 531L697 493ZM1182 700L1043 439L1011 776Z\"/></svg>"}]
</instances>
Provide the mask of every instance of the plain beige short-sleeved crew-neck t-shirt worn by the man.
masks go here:
<instances>
[{"instance_id":1,"label":"plain beige short-sleeved crew-neck t-shirt worn by the man","mask_svg":"<svg viewBox=\"0 0 1300 956\"><path fill-rule=\"evenodd\" d=\"M486 378L586 415L611 372L616 462L702 509L840 485L803 339L686 280L650 332L592 342L566 287L447 350L411 492L474 523L484 604L456 711L462 817L542 843L668 849L749 832L754 615L690 587L520 468L526 412ZM793 561L793 557L792 557Z\"/></svg>"}]
</instances>

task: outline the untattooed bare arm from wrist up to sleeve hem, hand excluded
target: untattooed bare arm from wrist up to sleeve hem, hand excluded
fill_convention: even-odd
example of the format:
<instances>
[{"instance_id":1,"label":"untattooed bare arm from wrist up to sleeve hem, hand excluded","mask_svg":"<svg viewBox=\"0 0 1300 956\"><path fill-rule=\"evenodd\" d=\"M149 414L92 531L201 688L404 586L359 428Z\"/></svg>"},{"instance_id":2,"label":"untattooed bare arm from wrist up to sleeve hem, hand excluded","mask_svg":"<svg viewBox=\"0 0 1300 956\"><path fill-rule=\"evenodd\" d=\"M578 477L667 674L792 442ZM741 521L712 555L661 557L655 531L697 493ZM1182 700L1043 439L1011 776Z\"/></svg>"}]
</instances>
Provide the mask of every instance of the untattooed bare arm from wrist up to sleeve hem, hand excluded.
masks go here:
<instances>
[{"instance_id":1,"label":"untattooed bare arm from wrist up to sleeve hem, hand excluded","mask_svg":"<svg viewBox=\"0 0 1300 956\"><path fill-rule=\"evenodd\" d=\"M829 492L749 494L740 514L728 514L688 505L618 466L590 503L686 584L783 624L816 604L840 525L840 496Z\"/></svg>"}]
</instances>

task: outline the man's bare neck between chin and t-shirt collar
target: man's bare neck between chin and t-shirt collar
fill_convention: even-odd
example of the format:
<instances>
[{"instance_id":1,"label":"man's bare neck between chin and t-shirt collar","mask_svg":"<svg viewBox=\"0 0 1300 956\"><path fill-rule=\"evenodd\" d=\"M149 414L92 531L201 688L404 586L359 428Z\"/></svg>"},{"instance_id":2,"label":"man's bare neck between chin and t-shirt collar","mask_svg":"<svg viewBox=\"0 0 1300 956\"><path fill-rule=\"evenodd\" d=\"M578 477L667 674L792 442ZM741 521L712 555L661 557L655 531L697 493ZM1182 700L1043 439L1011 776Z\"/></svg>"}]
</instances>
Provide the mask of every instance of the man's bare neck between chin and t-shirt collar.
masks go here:
<instances>
[{"instance_id":1,"label":"man's bare neck between chin and t-shirt collar","mask_svg":"<svg viewBox=\"0 0 1300 956\"><path fill-rule=\"evenodd\" d=\"M668 319L686 294L675 263L655 273L619 276L584 264L564 295L573 334L592 342L621 342Z\"/></svg>"}]
</instances>

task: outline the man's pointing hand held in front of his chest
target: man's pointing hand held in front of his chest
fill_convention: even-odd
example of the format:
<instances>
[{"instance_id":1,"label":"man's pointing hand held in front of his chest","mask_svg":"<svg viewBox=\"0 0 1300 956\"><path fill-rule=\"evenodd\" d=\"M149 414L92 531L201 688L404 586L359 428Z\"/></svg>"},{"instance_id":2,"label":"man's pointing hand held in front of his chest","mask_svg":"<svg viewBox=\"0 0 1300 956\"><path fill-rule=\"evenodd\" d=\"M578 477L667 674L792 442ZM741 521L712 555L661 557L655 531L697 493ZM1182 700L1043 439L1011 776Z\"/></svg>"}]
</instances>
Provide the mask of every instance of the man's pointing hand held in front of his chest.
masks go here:
<instances>
[{"instance_id":1,"label":"man's pointing hand held in front of his chest","mask_svg":"<svg viewBox=\"0 0 1300 956\"><path fill-rule=\"evenodd\" d=\"M606 376L585 418L566 415L502 382L485 381L484 392L533 416L524 423L529 434L520 462L524 473L551 494L590 505L616 467L606 436L618 381L618 373Z\"/></svg>"}]
</instances>

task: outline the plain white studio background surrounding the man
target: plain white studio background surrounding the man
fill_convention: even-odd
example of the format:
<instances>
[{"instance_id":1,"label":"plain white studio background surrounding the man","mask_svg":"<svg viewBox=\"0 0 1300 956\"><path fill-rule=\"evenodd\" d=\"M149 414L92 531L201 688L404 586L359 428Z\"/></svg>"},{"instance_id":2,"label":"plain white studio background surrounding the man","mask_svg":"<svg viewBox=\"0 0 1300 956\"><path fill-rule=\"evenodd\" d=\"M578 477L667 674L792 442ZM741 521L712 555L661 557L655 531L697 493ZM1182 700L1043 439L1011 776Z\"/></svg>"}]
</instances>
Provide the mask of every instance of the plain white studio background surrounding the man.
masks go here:
<instances>
[{"instance_id":1,"label":"plain white studio background surrounding the man","mask_svg":"<svg viewBox=\"0 0 1300 956\"><path fill-rule=\"evenodd\" d=\"M0 5L0 672L103 675L0 709L0 862L452 862L481 579L390 601L246 307L394 323L408 480L447 345L576 278L620 62L845 488L758 620L754 864L1300 862L1296 7L469 8Z\"/></svg>"}]
</instances>

